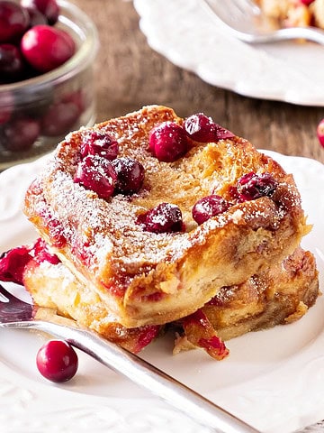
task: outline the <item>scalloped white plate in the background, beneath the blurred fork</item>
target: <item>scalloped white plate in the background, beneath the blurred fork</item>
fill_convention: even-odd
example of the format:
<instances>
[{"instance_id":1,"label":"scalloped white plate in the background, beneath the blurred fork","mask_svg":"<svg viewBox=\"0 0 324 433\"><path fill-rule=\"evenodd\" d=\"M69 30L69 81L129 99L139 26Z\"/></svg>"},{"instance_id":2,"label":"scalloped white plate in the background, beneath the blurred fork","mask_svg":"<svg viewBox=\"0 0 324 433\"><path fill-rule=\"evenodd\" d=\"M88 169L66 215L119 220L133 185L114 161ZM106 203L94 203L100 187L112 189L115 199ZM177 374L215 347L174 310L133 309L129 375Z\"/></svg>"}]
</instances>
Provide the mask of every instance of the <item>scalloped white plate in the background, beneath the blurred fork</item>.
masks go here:
<instances>
[{"instance_id":1,"label":"scalloped white plate in the background, beneath the blurred fork","mask_svg":"<svg viewBox=\"0 0 324 433\"><path fill-rule=\"evenodd\" d=\"M324 46L248 45L227 34L199 0L134 0L134 5L148 44L207 83L247 97L324 106Z\"/></svg>"}]
</instances>

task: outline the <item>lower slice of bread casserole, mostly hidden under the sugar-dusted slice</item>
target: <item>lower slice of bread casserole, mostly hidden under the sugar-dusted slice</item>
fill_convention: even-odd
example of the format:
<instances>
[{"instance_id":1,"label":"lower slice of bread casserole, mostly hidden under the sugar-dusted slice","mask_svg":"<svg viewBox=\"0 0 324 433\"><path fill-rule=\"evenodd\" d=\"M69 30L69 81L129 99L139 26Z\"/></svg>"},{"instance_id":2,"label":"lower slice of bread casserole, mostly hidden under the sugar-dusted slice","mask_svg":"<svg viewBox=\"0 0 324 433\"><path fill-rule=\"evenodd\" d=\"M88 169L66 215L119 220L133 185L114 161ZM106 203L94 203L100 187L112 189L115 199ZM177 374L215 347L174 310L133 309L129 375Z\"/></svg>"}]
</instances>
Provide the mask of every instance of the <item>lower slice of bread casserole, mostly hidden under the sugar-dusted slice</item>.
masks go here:
<instances>
[{"instance_id":1,"label":"lower slice of bread casserole, mostly hidden under the sugar-dusted slice","mask_svg":"<svg viewBox=\"0 0 324 433\"><path fill-rule=\"evenodd\" d=\"M46 251L47 246L43 247ZM33 254L24 270L23 283L38 308L52 309L59 316L72 318L79 326L93 329L134 353L163 330L171 328L177 335L175 353L200 346L212 357L222 359L229 351L221 340L291 323L302 318L319 296L314 257L297 248L274 268L242 284L222 287L213 299L189 317L163 326L127 328L113 317L104 300L77 281L63 263L51 260L52 256L44 254L40 247L36 251L38 253ZM44 314L42 309L39 313ZM217 351L202 345L202 338L206 340L208 336L216 339Z\"/></svg>"}]
</instances>

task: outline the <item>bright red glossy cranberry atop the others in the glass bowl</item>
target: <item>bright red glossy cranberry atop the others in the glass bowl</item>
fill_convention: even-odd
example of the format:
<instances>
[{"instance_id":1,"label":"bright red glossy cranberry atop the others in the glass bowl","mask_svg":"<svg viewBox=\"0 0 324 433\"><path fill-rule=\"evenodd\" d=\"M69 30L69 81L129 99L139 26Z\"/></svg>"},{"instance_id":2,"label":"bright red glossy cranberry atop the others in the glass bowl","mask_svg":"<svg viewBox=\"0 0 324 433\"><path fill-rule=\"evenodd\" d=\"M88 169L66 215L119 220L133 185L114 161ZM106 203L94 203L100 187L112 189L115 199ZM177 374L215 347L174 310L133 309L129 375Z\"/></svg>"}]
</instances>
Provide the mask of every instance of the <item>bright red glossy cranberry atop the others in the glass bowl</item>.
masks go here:
<instances>
[{"instance_id":1,"label":"bright red glossy cranberry atop the others in the glass bowl","mask_svg":"<svg viewBox=\"0 0 324 433\"><path fill-rule=\"evenodd\" d=\"M49 25L36 25L24 33L21 50L33 68L48 72L70 59L76 45L67 32Z\"/></svg>"}]
</instances>

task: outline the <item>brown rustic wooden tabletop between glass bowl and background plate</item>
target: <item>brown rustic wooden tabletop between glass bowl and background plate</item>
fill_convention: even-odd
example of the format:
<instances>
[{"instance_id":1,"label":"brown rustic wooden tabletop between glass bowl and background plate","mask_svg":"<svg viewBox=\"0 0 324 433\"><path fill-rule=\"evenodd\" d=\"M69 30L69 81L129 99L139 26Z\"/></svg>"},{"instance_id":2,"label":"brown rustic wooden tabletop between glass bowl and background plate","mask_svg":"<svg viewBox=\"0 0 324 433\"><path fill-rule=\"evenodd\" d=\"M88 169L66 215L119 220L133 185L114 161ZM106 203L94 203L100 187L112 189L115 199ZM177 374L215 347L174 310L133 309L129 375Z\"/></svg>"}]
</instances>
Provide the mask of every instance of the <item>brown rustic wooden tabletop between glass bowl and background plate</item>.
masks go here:
<instances>
[{"instance_id":1,"label":"brown rustic wooden tabletop between glass bowl and background plate","mask_svg":"<svg viewBox=\"0 0 324 433\"><path fill-rule=\"evenodd\" d=\"M172 106L181 116L195 112L210 115L257 148L324 162L324 149L316 134L324 107L241 97L212 87L148 46L132 2L73 1L92 17L100 36L95 65L97 121L161 104Z\"/></svg>"}]
</instances>

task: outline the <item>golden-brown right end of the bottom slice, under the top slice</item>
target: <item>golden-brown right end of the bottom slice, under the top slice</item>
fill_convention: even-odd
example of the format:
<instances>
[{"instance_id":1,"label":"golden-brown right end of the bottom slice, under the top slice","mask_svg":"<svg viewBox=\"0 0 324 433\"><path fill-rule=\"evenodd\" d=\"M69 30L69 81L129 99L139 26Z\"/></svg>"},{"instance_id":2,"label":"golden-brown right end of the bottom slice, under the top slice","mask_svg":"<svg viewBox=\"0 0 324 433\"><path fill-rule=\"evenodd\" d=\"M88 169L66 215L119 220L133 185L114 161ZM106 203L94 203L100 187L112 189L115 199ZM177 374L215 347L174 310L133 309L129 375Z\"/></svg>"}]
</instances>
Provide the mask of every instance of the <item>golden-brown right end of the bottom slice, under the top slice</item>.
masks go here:
<instances>
[{"instance_id":1,"label":"golden-brown right end of the bottom slice, under the top slice","mask_svg":"<svg viewBox=\"0 0 324 433\"><path fill-rule=\"evenodd\" d=\"M222 288L202 311L229 340L250 331L291 323L307 312L319 296L315 258L302 248L268 272L239 286Z\"/></svg>"}]
</instances>

